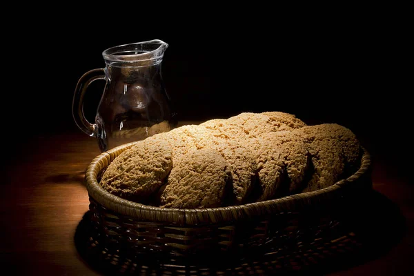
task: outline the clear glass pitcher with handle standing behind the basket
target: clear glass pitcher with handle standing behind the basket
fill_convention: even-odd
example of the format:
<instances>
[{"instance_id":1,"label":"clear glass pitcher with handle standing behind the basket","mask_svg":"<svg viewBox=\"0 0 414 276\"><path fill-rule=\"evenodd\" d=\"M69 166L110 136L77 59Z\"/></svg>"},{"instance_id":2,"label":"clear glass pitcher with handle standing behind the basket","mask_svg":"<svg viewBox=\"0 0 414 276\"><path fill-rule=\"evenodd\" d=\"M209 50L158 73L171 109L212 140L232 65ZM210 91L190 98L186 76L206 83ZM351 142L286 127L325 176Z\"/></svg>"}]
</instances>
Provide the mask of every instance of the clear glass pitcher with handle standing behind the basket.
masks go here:
<instances>
[{"instance_id":1,"label":"clear glass pitcher with handle standing behind the basket","mask_svg":"<svg viewBox=\"0 0 414 276\"><path fill-rule=\"evenodd\" d=\"M161 78L168 44L151 40L104 50L106 67L90 70L76 86L72 114L77 126L96 137L101 152L177 126L170 97ZM97 79L106 81L95 124L83 114L83 96Z\"/></svg>"}]
</instances>

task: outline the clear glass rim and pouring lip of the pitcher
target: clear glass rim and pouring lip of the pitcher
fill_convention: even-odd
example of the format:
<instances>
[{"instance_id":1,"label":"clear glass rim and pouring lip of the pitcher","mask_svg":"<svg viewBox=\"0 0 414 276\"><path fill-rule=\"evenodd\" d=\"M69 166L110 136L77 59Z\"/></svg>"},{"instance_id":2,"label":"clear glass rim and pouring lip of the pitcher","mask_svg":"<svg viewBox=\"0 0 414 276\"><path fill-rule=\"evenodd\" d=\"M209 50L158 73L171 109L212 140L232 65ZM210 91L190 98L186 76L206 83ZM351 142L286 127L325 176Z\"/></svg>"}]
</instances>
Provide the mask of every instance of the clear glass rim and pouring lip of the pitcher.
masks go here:
<instances>
[{"instance_id":1,"label":"clear glass rim and pouring lip of the pitcher","mask_svg":"<svg viewBox=\"0 0 414 276\"><path fill-rule=\"evenodd\" d=\"M116 55L118 52L122 52L123 48L128 48L131 46L138 46L138 45L142 46L144 44L159 44L159 46L153 50L140 52L139 54ZM148 41L126 43L126 44L107 48L106 50L102 52L102 56L103 56L103 59L106 59L107 61L122 61L122 62L150 61L150 60L162 58L164 56L164 50L166 48L168 48L168 43L160 39L152 39Z\"/></svg>"}]
</instances>

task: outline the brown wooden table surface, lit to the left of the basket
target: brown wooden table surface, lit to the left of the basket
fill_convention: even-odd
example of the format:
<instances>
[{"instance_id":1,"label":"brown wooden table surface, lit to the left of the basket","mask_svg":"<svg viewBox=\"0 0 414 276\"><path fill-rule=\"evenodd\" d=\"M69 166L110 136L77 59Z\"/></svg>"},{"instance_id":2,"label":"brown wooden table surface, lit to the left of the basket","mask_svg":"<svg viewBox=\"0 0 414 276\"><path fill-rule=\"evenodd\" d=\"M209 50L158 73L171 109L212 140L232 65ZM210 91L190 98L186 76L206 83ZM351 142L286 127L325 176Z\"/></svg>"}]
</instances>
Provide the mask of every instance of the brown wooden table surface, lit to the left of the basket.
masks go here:
<instances>
[{"instance_id":1,"label":"brown wooden table surface, lit to the left of the basket","mask_svg":"<svg viewBox=\"0 0 414 276\"><path fill-rule=\"evenodd\" d=\"M42 135L6 152L15 158L2 166L3 270L12 275L99 275L74 244L75 230L88 211L83 172L100 153L95 138L80 131ZM330 275L407 275L412 268L414 189L407 180L395 179L388 165L375 163L374 188L400 207L406 218L404 237L377 259Z\"/></svg>"}]
</instances>

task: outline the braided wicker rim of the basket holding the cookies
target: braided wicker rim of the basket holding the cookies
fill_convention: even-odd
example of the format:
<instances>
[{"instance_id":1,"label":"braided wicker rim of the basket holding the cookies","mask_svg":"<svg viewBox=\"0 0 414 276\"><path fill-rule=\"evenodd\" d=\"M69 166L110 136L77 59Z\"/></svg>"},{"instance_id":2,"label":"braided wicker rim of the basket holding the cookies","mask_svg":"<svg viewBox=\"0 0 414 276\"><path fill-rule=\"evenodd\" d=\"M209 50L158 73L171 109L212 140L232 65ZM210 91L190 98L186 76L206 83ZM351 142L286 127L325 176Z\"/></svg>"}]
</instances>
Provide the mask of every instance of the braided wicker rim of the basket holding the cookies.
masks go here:
<instances>
[{"instance_id":1,"label":"braided wicker rim of the basket holding the cookies","mask_svg":"<svg viewBox=\"0 0 414 276\"><path fill-rule=\"evenodd\" d=\"M238 206L226 206L217 208L199 208L199 209L178 209L178 208L160 208L139 204L129 201L116 195L112 195L102 188L98 181L97 175L103 168L106 168L110 162L115 159L121 152L131 148L139 141L124 144L102 152L95 157L86 170L86 188L90 197L95 199L106 209L112 210L120 215L132 217L141 221L167 222L179 225L197 225L221 223L224 221L236 221L256 217L258 215L268 215L273 213L287 213L298 210L304 210L309 206L315 206L330 199L341 197L342 190L346 188L357 187L357 179L369 173L371 168L371 155L362 148L363 155L361 166L353 175L346 179L337 181L337 183L308 193L299 193L289 195L278 199L254 202Z\"/></svg>"}]
</instances>

